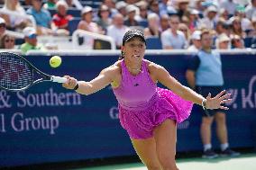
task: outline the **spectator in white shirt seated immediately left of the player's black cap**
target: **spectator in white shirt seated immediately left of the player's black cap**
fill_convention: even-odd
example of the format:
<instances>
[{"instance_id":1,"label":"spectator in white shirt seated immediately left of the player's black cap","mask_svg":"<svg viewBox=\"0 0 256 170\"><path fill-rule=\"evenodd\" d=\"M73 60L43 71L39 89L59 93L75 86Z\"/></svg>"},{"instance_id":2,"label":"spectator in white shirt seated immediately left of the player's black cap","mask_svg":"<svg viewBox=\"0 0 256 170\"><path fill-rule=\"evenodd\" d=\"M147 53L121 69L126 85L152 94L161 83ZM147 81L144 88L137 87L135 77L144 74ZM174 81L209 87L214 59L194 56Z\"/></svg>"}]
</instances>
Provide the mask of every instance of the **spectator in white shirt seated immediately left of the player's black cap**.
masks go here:
<instances>
[{"instance_id":1,"label":"spectator in white shirt seated immediately left of the player's black cap","mask_svg":"<svg viewBox=\"0 0 256 170\"><path fill-rule=\"evenodd\" d=\"M113 25L107 28L106 35L112 37L115 42L116 49L120 49L123 43L123 35L129 28L123 24L123 15L116 13L113 18Z\"/></svg>"}]
</instances>

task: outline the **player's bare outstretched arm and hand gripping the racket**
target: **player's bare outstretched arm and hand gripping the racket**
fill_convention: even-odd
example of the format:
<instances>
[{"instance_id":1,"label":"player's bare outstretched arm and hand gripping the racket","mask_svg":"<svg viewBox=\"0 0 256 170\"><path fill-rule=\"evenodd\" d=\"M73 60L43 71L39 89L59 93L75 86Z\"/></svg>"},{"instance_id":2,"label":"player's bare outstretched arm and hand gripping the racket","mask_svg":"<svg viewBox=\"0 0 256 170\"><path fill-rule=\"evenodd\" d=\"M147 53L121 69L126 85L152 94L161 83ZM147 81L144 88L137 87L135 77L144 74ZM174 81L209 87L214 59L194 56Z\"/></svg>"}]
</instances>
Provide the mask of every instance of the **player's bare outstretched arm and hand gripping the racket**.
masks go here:
<instances>
[{"instance_id":1,"label":"player's bare outstretched arm and hand gripping the racket","mask_svg":"<svg viewBox=\"0 0 256 170\"><path fill-rule=\"evenodd\" d=\"M79 94L93 94L97 91L105 88L106 85L111 84L116 77L120 74L120 69L117 66L106 67L103 69L96 78L93 80L86 81L77 81L74 77L67 77L67 83L63 84L63 87L68 89L74 89L74 87L78 84L78 89L76 90Z\"/></svg>"}]
</instances>

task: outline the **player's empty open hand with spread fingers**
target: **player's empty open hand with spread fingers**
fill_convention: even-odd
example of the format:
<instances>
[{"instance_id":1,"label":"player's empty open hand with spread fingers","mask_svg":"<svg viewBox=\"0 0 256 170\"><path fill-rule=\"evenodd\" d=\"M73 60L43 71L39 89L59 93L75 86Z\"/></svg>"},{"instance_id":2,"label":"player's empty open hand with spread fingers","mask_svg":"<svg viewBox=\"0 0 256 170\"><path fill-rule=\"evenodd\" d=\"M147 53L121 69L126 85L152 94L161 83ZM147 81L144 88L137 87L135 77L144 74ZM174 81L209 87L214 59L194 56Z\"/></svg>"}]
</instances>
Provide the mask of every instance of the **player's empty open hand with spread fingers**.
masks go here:
<instances>
[{"instance_id":1,"label":"player's empty open hand with spread fingers","mask_svg":"<svg viewBox=\"0 0 256 170\"><path fill-rule=\"evenodd\" d=\"M228 110L229 108L223 106L224 103L230 103L232 101L231 94L225 94L225 90L217 94L215 97L211 97L211 94L208 94L206 97L206 108L207 109L224 109Z\"/></svg>"}]
</instances>

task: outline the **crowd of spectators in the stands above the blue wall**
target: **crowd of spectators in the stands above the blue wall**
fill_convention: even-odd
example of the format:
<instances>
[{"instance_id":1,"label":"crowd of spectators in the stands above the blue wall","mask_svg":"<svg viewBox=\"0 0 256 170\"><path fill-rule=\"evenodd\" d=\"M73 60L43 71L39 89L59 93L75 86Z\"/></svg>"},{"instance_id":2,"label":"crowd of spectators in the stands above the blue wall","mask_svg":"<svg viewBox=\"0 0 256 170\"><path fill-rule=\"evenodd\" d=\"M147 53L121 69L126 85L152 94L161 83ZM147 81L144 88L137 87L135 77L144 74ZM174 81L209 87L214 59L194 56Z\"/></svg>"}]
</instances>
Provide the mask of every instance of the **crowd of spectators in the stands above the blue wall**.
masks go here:
<instances>
[{"instance_id":1,"label":"crowd of spectators in the stands above the blue wall","mask_svg":"<svg viewBox=\"0 0 256 170\"><path fill-rule=\"evenodd\" d=\"M76 19L78 24L72 25L74 30L110 36L117 49L122 44L124 32L131 28L142 29L147 39L158 38L161 49L198 49L203 29L211 30L216 49L255 47L252 42L256 37L256 0L242 1L244 4L236 4L234 0L103 0L96 7L84 5L85 2L2 0L0 33L2 29L23 32L32 27L27 18L10 14L19 13L32 15L36 35L70 36L69 22ZM69 13L70 10L79 14ZM1 33L2 38L4 34ZM22 47L5 46L5 40L1 40L2 49Z\"/></svg>"}]
</instances>

